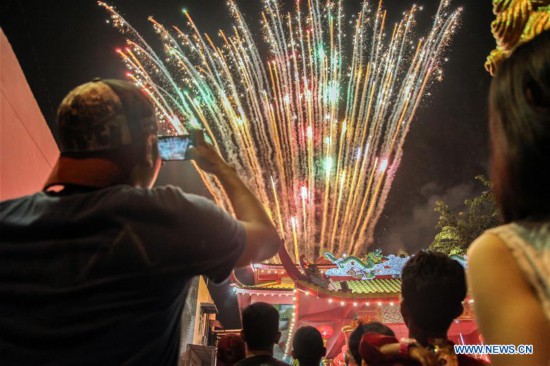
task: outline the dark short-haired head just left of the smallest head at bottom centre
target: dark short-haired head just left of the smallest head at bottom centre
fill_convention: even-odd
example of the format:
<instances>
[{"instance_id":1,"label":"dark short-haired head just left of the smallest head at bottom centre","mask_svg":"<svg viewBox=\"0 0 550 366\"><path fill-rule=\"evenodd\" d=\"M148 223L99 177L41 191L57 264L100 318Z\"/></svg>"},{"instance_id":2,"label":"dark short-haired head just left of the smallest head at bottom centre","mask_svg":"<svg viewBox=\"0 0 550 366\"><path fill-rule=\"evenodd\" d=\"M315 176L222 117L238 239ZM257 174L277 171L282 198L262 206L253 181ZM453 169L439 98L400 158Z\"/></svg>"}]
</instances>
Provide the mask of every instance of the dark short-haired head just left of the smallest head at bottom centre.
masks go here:
<instances>
[{"instance_id":1,"label":"dark short-haired head just left of the smallest head at bottom centre","mask_svg":"<svg viewBox=\"0 0 550 366\"><path fill-rule=\"evenodd\" d=\"M277 309L265 302L244 309L242 337L249 351L273 352L273 346L281 338Z\"/></svg>"}]
</instances>

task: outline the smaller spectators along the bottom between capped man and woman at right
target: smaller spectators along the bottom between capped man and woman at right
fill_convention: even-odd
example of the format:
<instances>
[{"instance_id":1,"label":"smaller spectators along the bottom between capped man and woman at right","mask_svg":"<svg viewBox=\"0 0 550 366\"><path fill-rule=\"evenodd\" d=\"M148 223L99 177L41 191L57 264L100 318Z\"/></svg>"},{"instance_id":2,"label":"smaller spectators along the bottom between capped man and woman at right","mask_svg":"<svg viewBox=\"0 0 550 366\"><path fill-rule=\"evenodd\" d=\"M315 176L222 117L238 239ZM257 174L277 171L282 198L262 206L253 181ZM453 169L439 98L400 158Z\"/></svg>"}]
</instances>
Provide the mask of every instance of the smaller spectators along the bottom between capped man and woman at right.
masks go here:
<instances>
[{"instance_id":1,"label":"smaller spectators along the bottom between capped man and woman at right","mask_svg":"<svg viewBox=\"0 0 550 366\"><path fill-rule=\"evenodd\" d=\"M462 314L466 297L464 268L448 256L421 251L403 268L401 314L409 337L398 340L387 325L379 322L360 324L349 336L347 366L390 365L461 365L482 366L482 360L454 352L447 332L454 319ZM237 366L284 366L273 358L279 342L279 313L269 304L257 302L242 314L241 339L244 344L220 340L218 360L228 363L226 354L239 354ZM227 336L235 337L235 335ZM239 350L246 349L246 352ZM319 365L326 348L319 330L312 326L298 328L292 339L292 357L300 366ZM227 366L227 365L226 365Z\"/></svg>"}]
</instances>

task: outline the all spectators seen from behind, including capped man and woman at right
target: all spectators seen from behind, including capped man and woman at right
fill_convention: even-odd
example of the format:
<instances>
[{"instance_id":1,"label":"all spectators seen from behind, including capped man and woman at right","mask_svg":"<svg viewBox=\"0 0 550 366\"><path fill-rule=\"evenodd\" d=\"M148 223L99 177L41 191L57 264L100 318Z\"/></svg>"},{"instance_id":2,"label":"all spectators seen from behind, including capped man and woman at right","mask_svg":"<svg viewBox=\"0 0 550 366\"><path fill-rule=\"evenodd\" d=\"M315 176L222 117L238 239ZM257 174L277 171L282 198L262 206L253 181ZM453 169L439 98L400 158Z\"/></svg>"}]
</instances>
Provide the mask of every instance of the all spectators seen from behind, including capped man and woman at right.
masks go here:
<instances>
[{"instance_id":1,"label":"all spectators seen from behind, including capped man and woman at right","mask_svg":"<svg viewBox=\"0 0 550 366\"><path fill-rule=\"evenodd\" d=\"M463 268L420 252L402 274L409 338L383 324L350 337L350 365L480 365L447 339L468 288L487 344L532 345L494 365L550 365L550 32L499 66L489 95L491 169L503 226L488 230ZM44 189L0 203L1 365L176 365L190 280L226 279L274 256L268 214L219 153L193 131L189 157L223 186L234 217L173 186L161 167L155 110L130 83L97 79L58 111L61 155ZM286 365L273 357L279 314L242 314L239 337L220 341L220 364ZM242 342L241 342L242 341ZM244 343L244 344L243 344ZM292 355L319 365L314 327L296 331Z\"/></svg>"}]
</instances>

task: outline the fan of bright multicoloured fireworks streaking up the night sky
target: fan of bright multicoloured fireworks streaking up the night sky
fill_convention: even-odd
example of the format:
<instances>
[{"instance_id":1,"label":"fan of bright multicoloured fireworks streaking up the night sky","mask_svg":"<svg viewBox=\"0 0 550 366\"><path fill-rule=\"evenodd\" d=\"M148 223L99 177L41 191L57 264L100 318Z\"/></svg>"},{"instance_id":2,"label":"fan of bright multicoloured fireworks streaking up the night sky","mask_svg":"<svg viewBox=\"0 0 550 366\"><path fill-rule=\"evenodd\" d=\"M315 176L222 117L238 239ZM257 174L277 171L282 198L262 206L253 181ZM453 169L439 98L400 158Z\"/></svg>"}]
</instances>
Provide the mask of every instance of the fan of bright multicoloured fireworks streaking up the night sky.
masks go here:
<instances>
[{"instance_id":1,"label":"fan of bright multicoloured fireworks streaking up the night sky","mask_svg":"<svg viewBox=\"0 0 550 366\"><path fill-rule=\"evenodd\" d=\"M185 11L186 30L149 18L161 57L99 4L127 35L118 53L150 94L164 132L204 128L263 203L291 257L366 252L415 111L441 78L460 9L441 1L432 28L414 39L417 6L388 30L382 1L365 1L349 18L342 0L296 0L288 14L264 0L263 39L255 39L230 0L233 32L220 31L217 43ZM231 210L219 182L201 177Z\"/></svg>"}]
</instances>

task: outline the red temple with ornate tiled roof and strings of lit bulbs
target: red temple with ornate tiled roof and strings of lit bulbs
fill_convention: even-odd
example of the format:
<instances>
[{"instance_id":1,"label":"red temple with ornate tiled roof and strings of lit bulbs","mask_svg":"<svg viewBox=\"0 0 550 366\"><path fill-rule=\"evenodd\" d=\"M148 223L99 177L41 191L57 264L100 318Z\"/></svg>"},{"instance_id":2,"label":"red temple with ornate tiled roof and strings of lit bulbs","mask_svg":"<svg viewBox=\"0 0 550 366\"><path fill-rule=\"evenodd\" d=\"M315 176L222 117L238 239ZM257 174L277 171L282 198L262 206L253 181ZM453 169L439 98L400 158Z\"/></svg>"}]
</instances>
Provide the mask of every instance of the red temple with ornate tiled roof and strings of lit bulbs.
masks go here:
<instances>
[{"instance_id":1,"label":"red temple with ornate tiled roof and strings of lit bulbs","mask_svg":"<svg viewBox=\"0 0 550 366\"><path fill-rule=\"evenodd\" d=\"M406 255L382 257L378 252L378 263L371 263L368 273L357 270L364 263L355 257L335 263L324 259L314 265L302 263L301 269L290 262L286 253L280 253L280 257L283 264L252 267L253 285L244 285L234 278L241 310L260 301L279 309L282 337L275 350L279 358L289 360L292 335L305 325L321 332L327 348L325 363L335 365L343 364L346 337L359 322L379 321L392 328L397 338L408 337L400 312L400 268L391 272L390 266L385 265L392 260L404 264ZM343 268L343 261L348 267ZM472 303L466 298L463 314L449 330L449 339L456 344L481 343Z\"/></svg>"}]
</instances>

